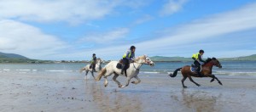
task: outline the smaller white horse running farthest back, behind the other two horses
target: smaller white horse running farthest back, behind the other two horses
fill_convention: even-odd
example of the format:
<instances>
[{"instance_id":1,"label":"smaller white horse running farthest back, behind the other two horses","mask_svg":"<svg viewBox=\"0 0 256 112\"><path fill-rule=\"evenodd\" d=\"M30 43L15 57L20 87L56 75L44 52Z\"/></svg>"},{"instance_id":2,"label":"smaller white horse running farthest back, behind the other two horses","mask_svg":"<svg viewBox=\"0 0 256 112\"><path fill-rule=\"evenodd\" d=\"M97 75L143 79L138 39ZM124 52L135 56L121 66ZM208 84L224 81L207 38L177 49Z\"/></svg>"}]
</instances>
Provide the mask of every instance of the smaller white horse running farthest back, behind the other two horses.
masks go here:
<instances>
[{"instance_id":1,"label":"smaller white horse running farthest back, behind the other two horses","mask_svg":"<svg viewBox=\"0 0 256 112\"><path fill-rule=\"evenodd\" d=\"M104 60L98 58L96 59L96 65L95 65L95 70L100 71L102 70L102 63L104 62ZM84 66L84 68L80 69L80 73L82 73L85 70L85 79L87 79L87 74L90 71L91 75L93 76L93 78L95 79L95 76L93 75L93 70L92 70L92 66L90 68L90 64L87 64L86 66Z\"/></svg>"}]
</instances>

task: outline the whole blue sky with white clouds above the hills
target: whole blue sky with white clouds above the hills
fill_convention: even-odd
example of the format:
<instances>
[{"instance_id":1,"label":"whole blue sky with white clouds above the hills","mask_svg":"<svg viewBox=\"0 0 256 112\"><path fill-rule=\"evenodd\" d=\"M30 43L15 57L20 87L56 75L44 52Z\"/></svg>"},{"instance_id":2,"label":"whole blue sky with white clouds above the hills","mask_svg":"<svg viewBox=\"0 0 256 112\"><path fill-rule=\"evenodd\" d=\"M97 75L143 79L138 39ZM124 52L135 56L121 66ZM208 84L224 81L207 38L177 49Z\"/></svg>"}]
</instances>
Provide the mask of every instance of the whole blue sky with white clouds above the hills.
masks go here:
<instances>
[{"instance_id":1,"label":"whole blue sky with white clouds above the hills","mask_svg":"<svg viewBox=\"0 0 256 112\"><path fill-rule=\"evenodd\" d=\"M255 0L0 0L0 52L30 59L256 53Z\"/></svg>"}]
</instances>

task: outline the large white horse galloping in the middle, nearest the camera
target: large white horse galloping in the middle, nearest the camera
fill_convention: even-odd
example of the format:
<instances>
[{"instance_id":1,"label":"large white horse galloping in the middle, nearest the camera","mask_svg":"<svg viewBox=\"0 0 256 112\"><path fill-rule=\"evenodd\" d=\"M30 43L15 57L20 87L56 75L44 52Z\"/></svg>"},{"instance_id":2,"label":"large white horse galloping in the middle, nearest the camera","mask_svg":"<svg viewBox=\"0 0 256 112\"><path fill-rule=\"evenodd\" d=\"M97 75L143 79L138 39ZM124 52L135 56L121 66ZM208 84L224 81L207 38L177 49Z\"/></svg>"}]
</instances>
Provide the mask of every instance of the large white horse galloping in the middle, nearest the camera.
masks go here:
<instances>
[{"instance_id":1,"label":"large white horse galloping in the middle, nearest the camera","mask_svg":"<svg viewBox=\"0 0 256 112\"><path fill-rule=\"evenodd\" d=\"M116 80L116 78L118 76L125 76L121 74L121 69L116 68L116 65L118 64L118 61L111 61L109 62L103 69L102 71L99 73L99 75L96 77L96 81L100 81L102 76L104 76L105 81L104 81L104 86L107 87L108 86L108 76L111 76L112 74L114 74L113 76L113 81L115 81L119 87L127 87L130 83L131 78L136 78L137 81L131 81L131 83L133 84L138 84L139 82L141 82L141 80L138 78L138 73L140 68L142 67L143 64L149 64L151 66L154 66L154 62L151 61L151 59L149 59L146 55L143 56L139 56L135 59L134 63L130 64L130 67L126 70L127 71L127 77L126 77L126 84L125 86L122 86L120 84L119 81Z\"/></svg>"}]
</instances>

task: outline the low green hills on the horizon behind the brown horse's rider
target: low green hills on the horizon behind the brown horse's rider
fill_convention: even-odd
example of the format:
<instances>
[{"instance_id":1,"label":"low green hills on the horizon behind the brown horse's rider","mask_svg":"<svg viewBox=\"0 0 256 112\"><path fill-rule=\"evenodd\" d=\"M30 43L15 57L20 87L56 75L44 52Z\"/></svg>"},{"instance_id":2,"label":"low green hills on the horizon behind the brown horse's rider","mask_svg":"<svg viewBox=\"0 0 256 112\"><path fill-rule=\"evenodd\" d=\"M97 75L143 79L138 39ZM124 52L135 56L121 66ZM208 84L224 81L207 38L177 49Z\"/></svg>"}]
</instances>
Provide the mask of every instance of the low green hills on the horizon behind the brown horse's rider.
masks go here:
<instances>
[{"instance_id":1,"label":"low green hills on the horizon behind the brown horse's rider","mask_svg":"<svg viewBox=\"0 0 256 112\"><path fill-rule=\"evenodd\" d=\"M216 57L218 59L218 57ZM193 61L191 58L184 58L184 57L164 57L164 56L154 56L150 57L153 61L160 61L160 62L179 62L179 61ZM223 58L218 60L225 60L225 61L241 61L241 60L256 60L256 54L250 56L242 56L237 58Z\"/></svg>"}]
</instances>

